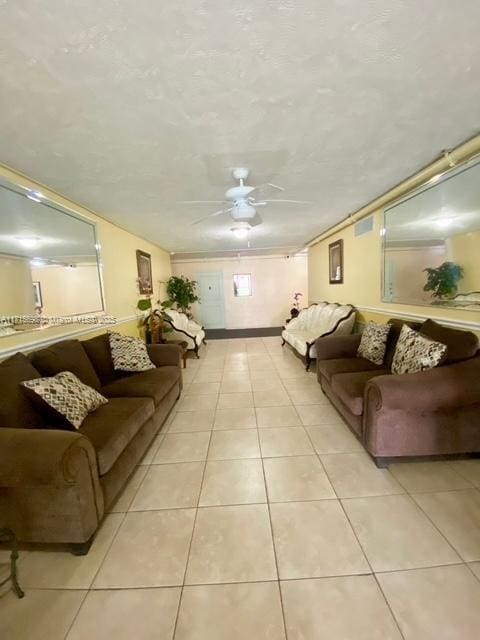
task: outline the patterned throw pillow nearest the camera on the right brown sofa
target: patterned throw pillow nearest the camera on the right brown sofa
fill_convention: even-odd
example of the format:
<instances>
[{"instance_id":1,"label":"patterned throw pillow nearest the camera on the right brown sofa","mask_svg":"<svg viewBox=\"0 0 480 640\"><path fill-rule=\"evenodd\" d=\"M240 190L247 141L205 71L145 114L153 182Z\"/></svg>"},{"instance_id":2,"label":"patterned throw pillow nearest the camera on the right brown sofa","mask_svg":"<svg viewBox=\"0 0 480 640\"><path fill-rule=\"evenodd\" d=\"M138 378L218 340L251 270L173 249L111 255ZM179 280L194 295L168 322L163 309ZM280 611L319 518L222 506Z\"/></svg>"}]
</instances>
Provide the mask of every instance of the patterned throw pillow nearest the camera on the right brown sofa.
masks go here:
<instances>
[{"instance_id":1,"label":"patterned throw pillow nearest the camera on the right brown sofa","mask_svg":"<svg viewBox=\"0 0 480 640\"><path fill-rule=\"evenodd\" d=\"M416 373L433 369L447 354L447 346L403 325L392 362L392 373Z\"/></svg>"}]
</instances>

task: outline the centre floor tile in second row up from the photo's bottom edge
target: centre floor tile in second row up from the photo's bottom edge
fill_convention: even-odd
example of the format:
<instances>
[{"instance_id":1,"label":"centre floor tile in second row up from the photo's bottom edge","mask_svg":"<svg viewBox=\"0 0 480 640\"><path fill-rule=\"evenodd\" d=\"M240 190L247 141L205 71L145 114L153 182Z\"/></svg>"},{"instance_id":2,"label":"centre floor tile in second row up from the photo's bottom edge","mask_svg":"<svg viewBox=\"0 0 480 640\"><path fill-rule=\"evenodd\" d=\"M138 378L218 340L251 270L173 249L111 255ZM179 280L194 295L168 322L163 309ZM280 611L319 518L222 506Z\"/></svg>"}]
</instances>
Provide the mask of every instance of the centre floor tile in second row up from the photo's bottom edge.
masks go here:
<instances>
[{"instance_id":1,"label":"centre floor tile in second row up from the photo's bottom edge","mask_svg":"<svg viewBox=\"0 0 480 640\"><path fill-rule=\"evenodd\" d=\"M276 579L266 505L198 510L186 584Z\"/></svg>"}]
</instances>

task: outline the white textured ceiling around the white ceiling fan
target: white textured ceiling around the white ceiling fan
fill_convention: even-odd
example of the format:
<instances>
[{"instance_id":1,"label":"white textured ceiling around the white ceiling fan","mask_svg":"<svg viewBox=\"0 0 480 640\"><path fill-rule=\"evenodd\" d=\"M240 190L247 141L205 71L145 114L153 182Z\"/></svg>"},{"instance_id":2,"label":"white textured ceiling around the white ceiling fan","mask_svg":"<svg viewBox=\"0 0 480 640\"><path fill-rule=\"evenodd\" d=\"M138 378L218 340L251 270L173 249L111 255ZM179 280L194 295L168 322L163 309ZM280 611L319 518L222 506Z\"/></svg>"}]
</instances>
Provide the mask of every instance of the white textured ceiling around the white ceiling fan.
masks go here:
<instances>
[{"instance_id":1,"label":"white textured ceiling around the white ceiling fan","mask_svg":"<svg viewBox=\"0 0 480 640\"><path fill-rule=\"evenodd\" d=\"M176 252L301 246L474 135L478 0L0 0L0 160ZM281 196L279 196L281 197Z\"/></svg>"}]
</instances>

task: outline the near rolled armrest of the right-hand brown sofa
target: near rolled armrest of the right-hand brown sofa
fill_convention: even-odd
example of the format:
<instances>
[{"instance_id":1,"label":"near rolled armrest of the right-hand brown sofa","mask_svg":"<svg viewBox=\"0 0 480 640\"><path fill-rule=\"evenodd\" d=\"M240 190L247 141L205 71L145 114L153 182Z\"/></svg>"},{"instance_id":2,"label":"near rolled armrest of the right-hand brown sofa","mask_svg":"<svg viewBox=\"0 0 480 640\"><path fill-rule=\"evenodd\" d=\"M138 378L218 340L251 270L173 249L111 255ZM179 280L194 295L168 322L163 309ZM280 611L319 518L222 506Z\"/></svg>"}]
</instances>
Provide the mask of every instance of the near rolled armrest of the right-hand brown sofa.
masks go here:
<instances>
[{"instance_id":1,"label":"near rolled armrest of the right-hand brown sofa","mask_svg":"<svg viewBox=\"0 0 480 640\"><path fill-rule=\"evenodd\" d=\"M448 411L480 404L480 358L403 375L379 376L365 393L377 411Z\"/></svg>"}]
</instances>

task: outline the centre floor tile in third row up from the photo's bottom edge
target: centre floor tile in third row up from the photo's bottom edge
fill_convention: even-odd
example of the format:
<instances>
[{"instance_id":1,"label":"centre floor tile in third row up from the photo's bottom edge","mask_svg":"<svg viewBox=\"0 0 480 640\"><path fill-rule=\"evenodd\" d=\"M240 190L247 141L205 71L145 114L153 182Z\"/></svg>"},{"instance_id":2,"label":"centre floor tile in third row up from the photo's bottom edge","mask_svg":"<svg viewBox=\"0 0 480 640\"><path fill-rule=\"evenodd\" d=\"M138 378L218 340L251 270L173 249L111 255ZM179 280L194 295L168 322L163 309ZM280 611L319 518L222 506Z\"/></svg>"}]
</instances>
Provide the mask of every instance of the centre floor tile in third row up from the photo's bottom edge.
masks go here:
<instances>
[{"instance_id":1,"label":"centre floor tile in third row up from the photo's bottom edge","mask_svg":"<svg viewBox=\"0 0 480 640\"><path fill-rule=\"evenodd\" d=\"M261 460L209 460L205 469L201 507L266 502Z\"/></svg>"}]
</instances>

